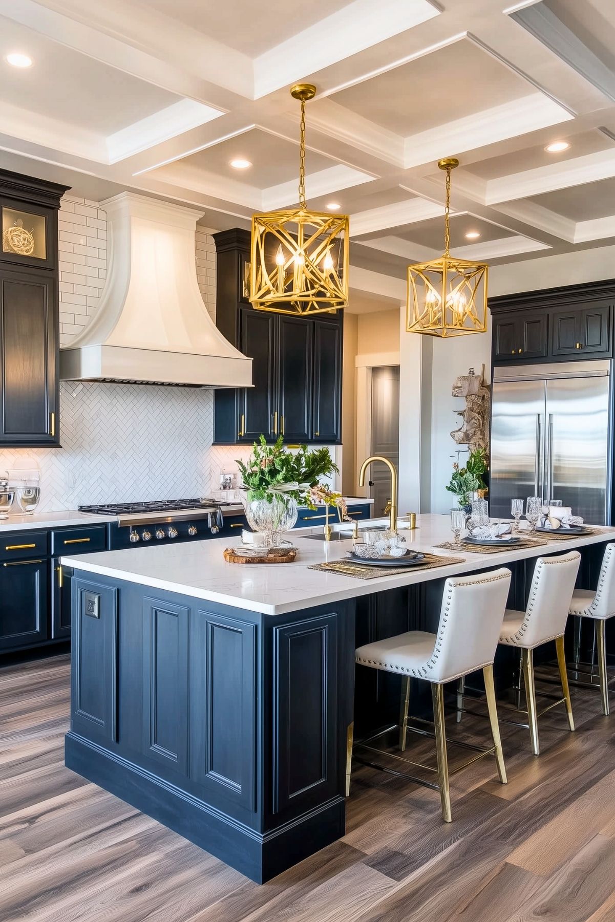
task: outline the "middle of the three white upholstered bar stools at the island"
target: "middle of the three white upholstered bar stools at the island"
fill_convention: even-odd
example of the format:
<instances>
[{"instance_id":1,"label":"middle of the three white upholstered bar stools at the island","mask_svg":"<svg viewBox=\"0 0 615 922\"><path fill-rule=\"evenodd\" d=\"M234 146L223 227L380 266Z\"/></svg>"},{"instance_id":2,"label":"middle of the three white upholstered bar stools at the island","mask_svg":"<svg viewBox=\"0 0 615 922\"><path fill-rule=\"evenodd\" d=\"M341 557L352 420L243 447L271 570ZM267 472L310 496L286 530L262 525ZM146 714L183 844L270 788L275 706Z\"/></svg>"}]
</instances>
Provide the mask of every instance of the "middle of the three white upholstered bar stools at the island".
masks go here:
<instances>
[{"instance_id":1,"label":"middle of the three white upholstered bar stools at the island","mask_svg":"<svg viewBox=\"0 0 615 922\"><path fill-rule=\"evenodd\" d=\"M573 705L570 701L563 633L566 630L568 610L573 597L574 582L581 555L572 550L559 557L538 557L525 611L506 609L500 644L521 649L523 680L526 689L527 724L534 755L540 754L538 742L538 717L558 704L566 705L568 726L574 730ZM540 714L537 712L536 683L534 679L534 650L537 646L555 641L563 698L558 699Z\"/></svg>"}]
</instances>

